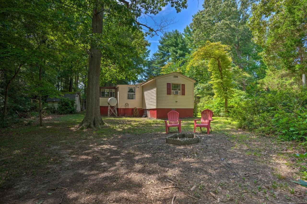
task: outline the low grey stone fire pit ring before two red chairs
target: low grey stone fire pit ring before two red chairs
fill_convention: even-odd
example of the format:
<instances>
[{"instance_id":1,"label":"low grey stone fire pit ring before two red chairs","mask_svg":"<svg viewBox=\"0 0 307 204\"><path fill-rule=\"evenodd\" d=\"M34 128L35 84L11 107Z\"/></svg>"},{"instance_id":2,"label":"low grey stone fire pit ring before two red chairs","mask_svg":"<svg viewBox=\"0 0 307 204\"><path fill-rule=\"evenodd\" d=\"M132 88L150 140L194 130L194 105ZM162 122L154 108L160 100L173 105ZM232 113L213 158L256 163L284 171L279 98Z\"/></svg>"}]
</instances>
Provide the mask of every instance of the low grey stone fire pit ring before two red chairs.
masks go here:
<instances>
[{"instance_id":1,"label":"low grey stone fire pit ring before two red chairs","mask_svg":"<svg viewBox=\"0 0 307 204\"><path fill-rule=\"evenodd\" d=\"M166 139L166 143L176 144L176 145L188 145L196 142L200 142L199 137L195 137L192 133L177 133L173 134Z\"/></svg>"}]
</instances>

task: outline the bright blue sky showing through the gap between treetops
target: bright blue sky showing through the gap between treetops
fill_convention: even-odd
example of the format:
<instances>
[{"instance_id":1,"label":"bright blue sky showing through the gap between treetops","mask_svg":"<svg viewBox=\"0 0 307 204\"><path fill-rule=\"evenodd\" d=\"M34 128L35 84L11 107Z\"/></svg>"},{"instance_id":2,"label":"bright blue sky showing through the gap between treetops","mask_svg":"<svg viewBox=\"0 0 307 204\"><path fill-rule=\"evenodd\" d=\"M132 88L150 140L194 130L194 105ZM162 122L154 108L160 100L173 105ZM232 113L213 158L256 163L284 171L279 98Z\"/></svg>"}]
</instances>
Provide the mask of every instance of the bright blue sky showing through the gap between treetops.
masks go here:
<instances>
[{"instance_id":1,"label":"bright blue sky showing through the gap between treetops","mask_svg":"<svg viewBox=\"0 0 307 204\"><path fill-rule=\"evenodd\" d=\"M168 20L174 19L175 23L169 25L166 30L172 31L177 29L178 31L183 32L183 29L192 22L192 15L194 15L198 10L202 9L203 2L204 0L188 0L188 8L183 9L180 13L177 13L174 8L172 8L170 5L167 5L162 8L162 11L153 18L157 22L160 22L162 18ZM150 18L147 18L147 21L149 22L149 25L153 25L153 21L151 21ZM159 39L163 34L158 33L158 35L159 36L147 37L151 43L151 46L149 47L150 57L154 52L157 51Z\"/></svg>"}]
</instances>

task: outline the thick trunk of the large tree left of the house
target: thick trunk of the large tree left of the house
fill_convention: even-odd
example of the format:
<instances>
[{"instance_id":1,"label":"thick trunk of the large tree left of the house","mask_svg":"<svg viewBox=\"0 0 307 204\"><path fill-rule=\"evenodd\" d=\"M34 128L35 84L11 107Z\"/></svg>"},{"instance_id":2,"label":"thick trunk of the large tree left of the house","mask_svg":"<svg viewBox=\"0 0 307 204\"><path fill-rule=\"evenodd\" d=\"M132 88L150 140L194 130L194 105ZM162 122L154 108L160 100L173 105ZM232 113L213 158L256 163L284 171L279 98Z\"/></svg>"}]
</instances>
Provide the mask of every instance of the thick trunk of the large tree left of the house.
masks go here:
<instances>
[{"instance_id":1,"label":"thick trunk of the large tree left of the house","mask_svg":"<svg viewBox=\"0 0 307 204\"><path fill-rule=\"evenodd\" d=\"M96 0L93 17L92 32L102 34L103 31L103 6ZM101 52L94 42L91 43L88 75L85 117L80 123L80 128L100 128L104 124L99 111L99 82L100 82Z\"/></svg>"}]
</instances>

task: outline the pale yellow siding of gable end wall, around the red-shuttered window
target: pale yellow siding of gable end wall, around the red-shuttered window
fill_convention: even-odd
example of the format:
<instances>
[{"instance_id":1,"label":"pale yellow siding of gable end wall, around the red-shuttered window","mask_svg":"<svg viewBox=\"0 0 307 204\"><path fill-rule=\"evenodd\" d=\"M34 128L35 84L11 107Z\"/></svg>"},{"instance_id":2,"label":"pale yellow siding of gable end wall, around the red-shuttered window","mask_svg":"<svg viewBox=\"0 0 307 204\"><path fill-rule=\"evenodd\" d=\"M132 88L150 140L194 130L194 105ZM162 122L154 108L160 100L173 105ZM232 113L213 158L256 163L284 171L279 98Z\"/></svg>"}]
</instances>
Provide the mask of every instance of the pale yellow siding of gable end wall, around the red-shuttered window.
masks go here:
<instances>
[{"instance_id":1,"label":"pale yellow siding of gable end wall, around the red-shuttered window","mask_svg":"<svg viewBox=\"0 0 307 204\"><path fill-rule=\"evenodd\" d=\"M177 75L178 78L174 78ZM157 81L157 108L193 108L194 89L193 81L178 74L156 79ZM185 95L167 95L167 83L185 84ZM177 101L177 102L176 102Z\"/></svg>"}]
</instances>

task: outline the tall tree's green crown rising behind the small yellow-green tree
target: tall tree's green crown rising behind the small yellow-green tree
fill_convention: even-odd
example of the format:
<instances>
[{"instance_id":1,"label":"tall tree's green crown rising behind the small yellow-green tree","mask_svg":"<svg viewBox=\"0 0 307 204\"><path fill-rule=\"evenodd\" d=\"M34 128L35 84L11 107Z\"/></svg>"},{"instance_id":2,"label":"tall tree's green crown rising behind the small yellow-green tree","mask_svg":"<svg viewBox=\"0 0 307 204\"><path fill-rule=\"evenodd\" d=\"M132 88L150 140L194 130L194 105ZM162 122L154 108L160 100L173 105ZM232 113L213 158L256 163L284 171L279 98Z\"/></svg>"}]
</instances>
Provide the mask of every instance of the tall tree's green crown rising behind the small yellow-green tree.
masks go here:
<instances>
[{"instance_id":1,"label":"tall tree's green crown rising behind the small yellow-green tree","mask_svg":"<svg viewBox=\"0 0 307 204\"><path fill-rule=\"evenodd\" d=\"M255 79L263 78L265 66L259 64L261 47L252 42L251 31L247 26L249 10L253 0L208 0L204 1L203 10L193 16L191 23L192 40L196 47L207 40L221 42L229 46L231 60L240 70L248 73L237 79L250 84ZM255 62L256 61L256 62Z\"/></svg>"}]
</instances>

